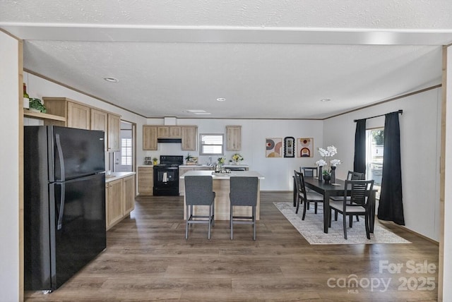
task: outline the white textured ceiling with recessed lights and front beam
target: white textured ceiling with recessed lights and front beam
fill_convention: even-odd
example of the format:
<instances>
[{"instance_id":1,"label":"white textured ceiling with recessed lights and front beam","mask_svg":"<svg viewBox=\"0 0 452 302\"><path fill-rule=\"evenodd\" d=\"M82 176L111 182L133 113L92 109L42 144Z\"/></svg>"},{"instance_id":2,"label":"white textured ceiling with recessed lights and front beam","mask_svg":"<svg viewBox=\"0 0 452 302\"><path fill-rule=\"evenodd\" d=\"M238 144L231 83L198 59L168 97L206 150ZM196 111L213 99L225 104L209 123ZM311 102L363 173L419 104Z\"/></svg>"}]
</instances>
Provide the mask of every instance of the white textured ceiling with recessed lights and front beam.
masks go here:
<instances>
[{"instance_id":1,"label":"white textured ceiling with recessed lights and front beam","mask_svg":"<svg viewBox=\"0 0 452 302\"><path fill-rule=\"evenodd\" d=\"M26 69L148 117L322 119L441 83L452 42L452 1L0 6Z\"/></svg>"}]
</instances>

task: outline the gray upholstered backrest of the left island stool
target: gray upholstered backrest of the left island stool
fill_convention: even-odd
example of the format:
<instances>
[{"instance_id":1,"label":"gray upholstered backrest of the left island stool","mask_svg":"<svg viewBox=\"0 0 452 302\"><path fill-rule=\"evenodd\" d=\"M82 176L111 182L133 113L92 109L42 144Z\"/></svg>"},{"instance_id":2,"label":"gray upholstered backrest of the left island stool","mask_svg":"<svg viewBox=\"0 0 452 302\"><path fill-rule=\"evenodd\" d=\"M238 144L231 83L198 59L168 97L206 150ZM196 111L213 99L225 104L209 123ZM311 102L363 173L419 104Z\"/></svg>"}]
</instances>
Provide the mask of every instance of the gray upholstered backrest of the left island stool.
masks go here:
<instances>
[{"instance_id":1,"label":"gray upholstered backrest of the left island stool","mask_svg":"<svg viewBox=\"0 0 452 302\"><path fill-rule=\"evenodd\" d=\"M185 176L187 205L210 205L213 198L212 176Z\"/></svg>"}]
</instances>

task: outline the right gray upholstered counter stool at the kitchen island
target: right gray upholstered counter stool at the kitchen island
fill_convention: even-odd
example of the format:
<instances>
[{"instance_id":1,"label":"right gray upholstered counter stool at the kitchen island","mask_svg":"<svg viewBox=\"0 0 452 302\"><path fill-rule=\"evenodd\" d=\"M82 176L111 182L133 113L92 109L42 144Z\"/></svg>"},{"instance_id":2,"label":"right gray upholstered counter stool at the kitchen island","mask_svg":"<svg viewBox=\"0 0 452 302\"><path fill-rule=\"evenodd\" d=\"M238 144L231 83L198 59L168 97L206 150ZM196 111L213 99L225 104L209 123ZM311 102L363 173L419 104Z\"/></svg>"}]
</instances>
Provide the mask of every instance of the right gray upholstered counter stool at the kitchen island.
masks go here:
<instances>
[{"instance_id":1,"label":"right gray upholstered counter stool at the kitchen island","mask_svg":"<svg viewBox=\"0 0 452 302\"><path fill-rule=\"evenodd\" d=\"M253 240L256 240L256 203L258 194L258 178L231 176L230 178L230 228L231 239L234 237L235 224L252 224ZM251 216L234 216L234 207L251 207Z\"/></svg>"}]
</instances>

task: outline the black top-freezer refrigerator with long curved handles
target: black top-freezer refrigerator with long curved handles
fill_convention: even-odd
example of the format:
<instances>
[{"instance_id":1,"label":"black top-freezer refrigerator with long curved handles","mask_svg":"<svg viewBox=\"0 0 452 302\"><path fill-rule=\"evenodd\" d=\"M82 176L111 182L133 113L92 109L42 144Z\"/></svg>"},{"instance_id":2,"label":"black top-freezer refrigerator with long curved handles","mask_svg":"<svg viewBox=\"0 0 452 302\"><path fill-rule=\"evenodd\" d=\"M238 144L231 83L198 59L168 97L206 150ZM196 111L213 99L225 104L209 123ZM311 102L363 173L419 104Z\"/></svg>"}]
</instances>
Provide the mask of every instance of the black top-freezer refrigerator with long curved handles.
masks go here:
<instances>
[{"instance_id":1,"label":"black top-freezer refrigerator with long curved handles","mask_svg":"<svg viewBox=\"0 0 452 302\"><path fill-rule=\"evenodd\" d=\"M24 287L58 289L106 247L104 132L24 127Z\"/></svg>"}]
</instances>

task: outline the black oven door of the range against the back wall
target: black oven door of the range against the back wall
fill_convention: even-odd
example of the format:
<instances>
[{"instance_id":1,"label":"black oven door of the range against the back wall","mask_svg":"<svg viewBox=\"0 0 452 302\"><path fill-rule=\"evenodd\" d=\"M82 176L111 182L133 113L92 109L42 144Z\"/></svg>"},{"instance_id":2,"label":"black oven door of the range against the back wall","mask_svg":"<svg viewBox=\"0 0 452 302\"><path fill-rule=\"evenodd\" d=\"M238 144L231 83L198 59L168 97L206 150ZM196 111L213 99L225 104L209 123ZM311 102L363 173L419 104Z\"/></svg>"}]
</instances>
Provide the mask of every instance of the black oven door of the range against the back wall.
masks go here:
<instances>
[{"instance_id":1,"label":"black oven door of the range against the back wall","mask_svg":"<svg viewBox=\"0 0 452 302\"><path fill-rule=\"evenodd\" d=\"M179 167L154 167L154 195L179 195Z\"/></svg>"}]
</instances>

